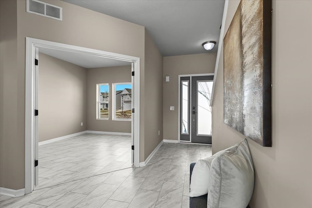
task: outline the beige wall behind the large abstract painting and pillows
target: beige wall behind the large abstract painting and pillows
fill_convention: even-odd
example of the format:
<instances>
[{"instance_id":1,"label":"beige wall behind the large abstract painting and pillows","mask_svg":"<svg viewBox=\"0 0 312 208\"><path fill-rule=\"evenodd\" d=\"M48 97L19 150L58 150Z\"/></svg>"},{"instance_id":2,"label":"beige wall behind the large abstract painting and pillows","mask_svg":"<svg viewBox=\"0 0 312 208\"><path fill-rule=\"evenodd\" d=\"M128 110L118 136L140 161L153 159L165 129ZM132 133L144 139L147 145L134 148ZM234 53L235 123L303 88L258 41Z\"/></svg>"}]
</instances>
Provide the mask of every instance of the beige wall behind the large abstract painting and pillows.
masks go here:
<instances>
[{"instance_id":1,"label":"beige wall behind the large abstract painting and pillows","mask_svg":"<svg viewBox=\"0 0 312 208\"><path fill-rule=\"evenodd\" d=\"M229 1L227 30L239 1ZM252 208L312 207L312 1L273 0L272 147L248 139ZM298 41L292 41L292 40ZM223 53L213 100L213 153L245 138L223 123Z\"/></svg>"}]
</instances>

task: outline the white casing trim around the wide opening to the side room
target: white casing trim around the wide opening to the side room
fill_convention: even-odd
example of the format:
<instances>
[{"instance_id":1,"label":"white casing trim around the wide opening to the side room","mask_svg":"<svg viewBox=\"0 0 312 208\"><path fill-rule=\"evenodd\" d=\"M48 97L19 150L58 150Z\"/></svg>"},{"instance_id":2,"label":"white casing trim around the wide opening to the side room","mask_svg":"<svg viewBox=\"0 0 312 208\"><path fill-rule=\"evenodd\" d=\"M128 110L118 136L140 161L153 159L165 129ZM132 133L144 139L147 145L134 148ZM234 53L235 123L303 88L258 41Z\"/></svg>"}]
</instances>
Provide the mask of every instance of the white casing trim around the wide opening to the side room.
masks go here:
<instances>
[{"instance_id":1,"label":"white casing trim around the wide opening to the side room","mask_svg":"<svg viewBox=\"0 0 312 208\"><path fill-rule=\"evenodd\" d=\"M38 126L35 125L35 52L36 47L50 48L68 52L85 53L98 57L112 58L132 62L135 71L133 106L133 131L134 138L134 165L139 167L139 132L140 132L140 58L122 54L84 48L74 45L57 43L47 40L26 37L26 67L25 67L25 194L34 190L34 163L35 163L35 133ZM37 129L36 129L37 128ZM129 147L130 148L130 147ZM40 162L40 161L39 161Z\"/></svg>"}]
</instances>

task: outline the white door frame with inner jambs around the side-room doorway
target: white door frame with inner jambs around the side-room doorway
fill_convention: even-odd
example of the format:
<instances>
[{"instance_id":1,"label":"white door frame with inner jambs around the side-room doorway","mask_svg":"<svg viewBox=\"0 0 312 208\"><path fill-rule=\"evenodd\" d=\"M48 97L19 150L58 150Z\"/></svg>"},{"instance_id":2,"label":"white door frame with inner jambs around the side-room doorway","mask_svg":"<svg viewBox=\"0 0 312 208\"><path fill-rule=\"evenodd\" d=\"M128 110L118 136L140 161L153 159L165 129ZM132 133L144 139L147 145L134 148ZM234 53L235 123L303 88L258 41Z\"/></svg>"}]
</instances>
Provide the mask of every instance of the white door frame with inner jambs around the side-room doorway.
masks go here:
<instances>
[{"instance_id":1,"label":"white door frame with inner jambs around the side-room doorway","mask_svg":"<svg viewBox=\"0 0 312 208\"><path fill-rule=\"evenodd\" d=\"M99 51L68 44L26 38L25 71L25 193L34 190L38 183L38 55L39 48L55 49L63 52L87 54L130 62L132 66L132 108L136 113L131 116L132 163L139 166L139 65L138 57L131 57L111 52ZM36 60L37 59L37 60ZM134 110L132 111L134 112ZM136 148L134 148L136 147Z\"/></svg>"}]
</instances>

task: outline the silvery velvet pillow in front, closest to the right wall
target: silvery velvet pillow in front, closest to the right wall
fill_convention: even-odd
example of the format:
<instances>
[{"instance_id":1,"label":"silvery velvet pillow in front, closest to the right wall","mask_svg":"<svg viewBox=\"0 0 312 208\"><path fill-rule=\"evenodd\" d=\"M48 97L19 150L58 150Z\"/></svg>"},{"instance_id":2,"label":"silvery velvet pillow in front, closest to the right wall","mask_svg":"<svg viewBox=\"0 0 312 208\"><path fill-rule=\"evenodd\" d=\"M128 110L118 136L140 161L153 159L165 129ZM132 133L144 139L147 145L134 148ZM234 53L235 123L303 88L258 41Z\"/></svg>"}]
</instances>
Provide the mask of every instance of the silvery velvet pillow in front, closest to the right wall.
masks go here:
<instances>
[{"instance_id":1,"label":"silvery velvet pillow in front, closest to the right wall","mask_svg":"<svg viewBox=\"0 0 312 208\"><path fill-rule=\"evenodd\" d=\"M247 140L211 163L207 208L246 208L254 191L254 164Z\"/></svg>"}]
</instances>

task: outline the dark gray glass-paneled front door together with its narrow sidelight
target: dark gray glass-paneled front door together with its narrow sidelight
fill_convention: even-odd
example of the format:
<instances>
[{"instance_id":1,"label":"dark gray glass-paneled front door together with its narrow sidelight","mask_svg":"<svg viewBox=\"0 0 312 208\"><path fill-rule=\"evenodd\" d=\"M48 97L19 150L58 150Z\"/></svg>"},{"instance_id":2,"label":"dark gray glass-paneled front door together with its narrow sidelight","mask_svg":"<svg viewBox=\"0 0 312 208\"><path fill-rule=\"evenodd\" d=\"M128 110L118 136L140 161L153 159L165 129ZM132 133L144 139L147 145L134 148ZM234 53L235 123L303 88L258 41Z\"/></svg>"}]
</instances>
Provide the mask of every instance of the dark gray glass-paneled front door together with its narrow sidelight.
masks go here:
<instances>
[{"instance_id":1,"label":"dark gray glass-paneled front door together with its narrow sidelight","mask_svg":"<svg viewBox=\"0 0 312 208\"><path fill-rule=\"evenodd\" d=\"M180 77L180 141L212 143L213 79L214 76Z\"/></svg>"}]
</instances>

